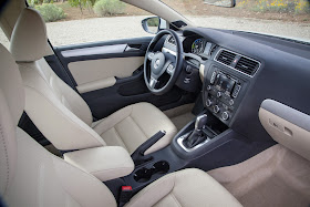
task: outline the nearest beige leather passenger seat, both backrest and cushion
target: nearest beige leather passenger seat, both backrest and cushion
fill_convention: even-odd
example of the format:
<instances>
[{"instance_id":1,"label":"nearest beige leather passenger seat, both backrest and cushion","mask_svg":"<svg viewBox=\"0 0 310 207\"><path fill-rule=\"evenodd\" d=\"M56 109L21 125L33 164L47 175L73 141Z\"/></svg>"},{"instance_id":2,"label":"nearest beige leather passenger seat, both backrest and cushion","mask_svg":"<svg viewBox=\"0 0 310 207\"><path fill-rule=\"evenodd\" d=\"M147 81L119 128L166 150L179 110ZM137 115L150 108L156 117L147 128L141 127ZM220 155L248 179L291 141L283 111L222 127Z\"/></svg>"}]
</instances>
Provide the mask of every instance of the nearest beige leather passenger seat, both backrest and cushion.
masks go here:
<instances>
[{"instance_id":1,"label":"nearest beige leather passenger seat, both backrest and cushion","mask_svg":"<svg viewBox=\"0 0 310 207\"><path fill-rule=\"evenodd\" d=\"M50 154L17 127L24 108L22 80L0 44L0 196L9 206L105 206L116 201L94 176ZM199 169L185 169L154 182L126 205L240 206Z\"/></svg>"}]
</instances>

